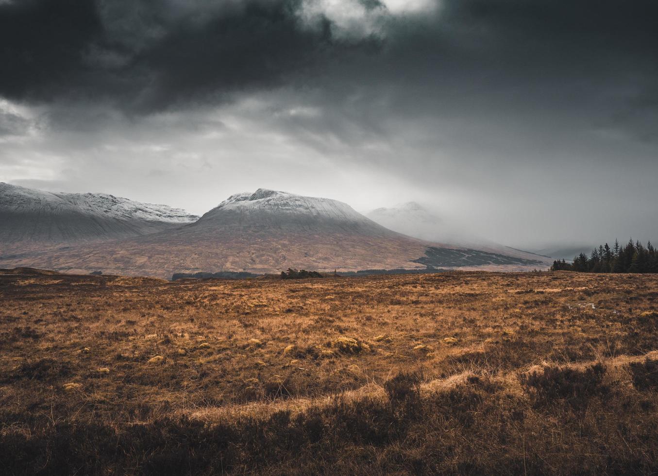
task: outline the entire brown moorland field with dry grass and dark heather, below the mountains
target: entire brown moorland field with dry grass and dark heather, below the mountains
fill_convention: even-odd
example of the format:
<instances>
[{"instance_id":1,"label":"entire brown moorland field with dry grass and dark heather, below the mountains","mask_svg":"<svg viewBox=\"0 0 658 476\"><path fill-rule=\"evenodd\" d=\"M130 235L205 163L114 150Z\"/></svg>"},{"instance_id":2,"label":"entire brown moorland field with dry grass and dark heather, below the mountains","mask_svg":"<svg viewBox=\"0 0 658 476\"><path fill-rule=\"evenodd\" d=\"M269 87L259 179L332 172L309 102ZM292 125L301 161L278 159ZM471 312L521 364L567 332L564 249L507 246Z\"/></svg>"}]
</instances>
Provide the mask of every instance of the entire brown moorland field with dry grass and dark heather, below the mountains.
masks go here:
<instances>
[{"instance_id":1,"label":"entire brown moorland field with dry grass and dark heather, below the mountains","mask_svg":"<svg viewBox=\"0 0 658 476\"><path fill-rule=\"evenodd\" d=\"M658 275L0 272L4 474L651 474Z\"/></svg>"}]
</instances>

